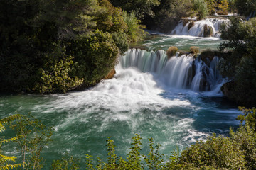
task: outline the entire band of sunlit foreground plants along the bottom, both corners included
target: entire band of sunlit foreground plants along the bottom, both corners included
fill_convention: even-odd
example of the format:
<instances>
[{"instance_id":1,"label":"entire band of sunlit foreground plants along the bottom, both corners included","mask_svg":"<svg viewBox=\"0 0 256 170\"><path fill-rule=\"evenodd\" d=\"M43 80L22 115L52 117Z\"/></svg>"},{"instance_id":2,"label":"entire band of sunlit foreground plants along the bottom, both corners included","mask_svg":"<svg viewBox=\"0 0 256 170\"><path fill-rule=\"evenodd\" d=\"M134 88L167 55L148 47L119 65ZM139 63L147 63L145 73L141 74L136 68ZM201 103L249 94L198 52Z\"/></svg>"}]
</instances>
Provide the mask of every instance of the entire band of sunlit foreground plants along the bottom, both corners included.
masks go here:
<instances>
[{"instance_id":1,"label":"entire band of sunlit foreground plants along the bottom, both corners included","mask_svg":"<svg viewBox=\"0 0 256 170\"><path fill-rule=\"evenodd\" d=\"M206 141L198 141L188 149L178 149L169 156L161 154L161 144L149 138L149 153L141 154L142 137L132 137L132 146L127 158L119 157L114 150L114 141L107 139L107 160L97 159L86 154L87 169L256 169L256 108L240 108L243 115L238 116L240 128L237 132L230 129L230 137L213 136ZM0 152L0 169L21 167L21 169L43 169L45 166L41 152L50 142L53 130L39 120L28 115L11 115L0 120L0 128L13 130L11 139L1 138L0 144L14 142L17 158L5 156ZM166 160L166 157L168 159ZM16 163L14 164L14 160ZM81 158L68 154L54 160L51 169L80 169Z\"/></svg>"}]
</instances>

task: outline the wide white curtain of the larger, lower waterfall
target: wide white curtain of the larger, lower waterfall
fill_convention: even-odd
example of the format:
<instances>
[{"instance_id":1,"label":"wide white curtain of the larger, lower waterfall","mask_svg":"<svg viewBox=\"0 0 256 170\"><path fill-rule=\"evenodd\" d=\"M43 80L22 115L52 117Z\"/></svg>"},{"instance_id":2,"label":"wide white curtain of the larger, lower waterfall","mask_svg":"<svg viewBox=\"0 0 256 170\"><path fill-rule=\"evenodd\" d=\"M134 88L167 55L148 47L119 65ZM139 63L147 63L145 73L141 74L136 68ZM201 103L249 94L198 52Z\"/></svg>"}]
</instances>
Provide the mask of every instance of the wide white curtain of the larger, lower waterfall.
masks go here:
<instances>
[{"instance_id":1,"label":"wide white curtain of the larger, lower waterfall","mask_svg":"<svg viewBox=\"0 0 256 170\"><path fill-rule=\"evenodd\" d=\"M146 51L130 49L120 57L123 68L135 67L142 72L151 72L166 86L193 91L215 89L222 77L218 73L219 57L215 56L210 64L192 55L174 56L168 59L164 50Z\"/></svg>"}]
</instances>

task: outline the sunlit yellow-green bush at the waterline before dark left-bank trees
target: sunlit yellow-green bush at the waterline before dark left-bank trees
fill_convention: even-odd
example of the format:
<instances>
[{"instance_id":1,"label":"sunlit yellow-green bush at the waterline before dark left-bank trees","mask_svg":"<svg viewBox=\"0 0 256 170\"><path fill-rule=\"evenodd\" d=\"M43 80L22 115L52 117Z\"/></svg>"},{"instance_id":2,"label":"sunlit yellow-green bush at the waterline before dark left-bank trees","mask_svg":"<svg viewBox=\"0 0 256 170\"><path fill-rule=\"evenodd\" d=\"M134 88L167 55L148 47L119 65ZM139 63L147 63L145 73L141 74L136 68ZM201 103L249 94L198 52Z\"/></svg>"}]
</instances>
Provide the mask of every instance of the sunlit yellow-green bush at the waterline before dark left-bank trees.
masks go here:
<instances>
[{"instance_id":1,"label":"sunlit yellow-green bush at the waterline before dark left-bank trees","mask_svg":"<svg viewBox=\"0 0 256 170\"><path fill-rule=\"evenodd\" d=\"M67 92L82 84L83 79L71 78L69 73L73 64L73 57L65 55L61 47L55 47L53 52L46 55L43 68L39 69L41 81L38 81L34 90L41 94L53 92Z\"/></svg>"}]
</instances>

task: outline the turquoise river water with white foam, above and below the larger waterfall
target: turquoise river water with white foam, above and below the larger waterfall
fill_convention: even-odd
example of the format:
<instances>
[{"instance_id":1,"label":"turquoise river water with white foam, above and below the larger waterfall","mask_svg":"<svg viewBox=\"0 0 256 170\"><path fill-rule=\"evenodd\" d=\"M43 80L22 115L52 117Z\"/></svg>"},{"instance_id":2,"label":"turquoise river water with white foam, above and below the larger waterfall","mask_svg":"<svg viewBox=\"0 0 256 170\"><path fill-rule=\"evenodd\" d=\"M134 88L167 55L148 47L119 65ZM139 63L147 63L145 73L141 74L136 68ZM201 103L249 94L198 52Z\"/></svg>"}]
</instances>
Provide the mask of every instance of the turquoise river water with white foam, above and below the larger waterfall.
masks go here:
<instances>
[{"instance_id":1,"label":"turquoise river water with white foam, above and below the larger waterfall","mask_svg":"<svg viewBox=\"0 0 256 170\"><path fill-rule=\"evenodd\" d=\"M166 50L176 45L180 50L190 46L217 49L218 38L195 38L160 35L146 40L149 50ZM196 140L206 140L213 132L228 135L230 127L238 127L240 114L216 86L212 91L169 86L161 73L142 72L137 67L116 66L113 79L102 81L85 91L68 94L1 94L0 115L31 112L54 128L53 142L43 151L46 164L65 152L76 157L91 154L94 159L107 158L107 137L112 137L116 152L126 157L131 138L136 133L143 138L142 154L147 154L147 138L161 143L161 152L185 149ZM171 72L171 71L170 71ZM7 154L16 154L7 145ZM84 163L81 166L85 166ZM46 169L48 166L46 166Z\"/></svg>"}]
</instances>

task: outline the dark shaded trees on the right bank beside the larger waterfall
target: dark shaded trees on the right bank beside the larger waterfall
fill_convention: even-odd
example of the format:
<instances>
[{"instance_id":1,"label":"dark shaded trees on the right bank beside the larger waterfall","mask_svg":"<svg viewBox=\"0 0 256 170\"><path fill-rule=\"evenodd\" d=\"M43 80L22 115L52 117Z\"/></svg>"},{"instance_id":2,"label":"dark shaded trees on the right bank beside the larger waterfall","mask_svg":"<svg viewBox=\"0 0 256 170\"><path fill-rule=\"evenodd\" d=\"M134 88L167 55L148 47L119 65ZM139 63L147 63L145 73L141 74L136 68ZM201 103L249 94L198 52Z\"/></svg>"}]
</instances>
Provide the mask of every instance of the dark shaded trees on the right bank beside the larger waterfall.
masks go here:
<instances>
[{"instance_id":1,"label":"dark shaded trees on the right bank beside the larger waterfall","mask_svg":"<svg viewBox=\"0 0 256 170\"><path fill-rule=\"evenodd\" d=\"M223 37L229 42L223 42L220 50L232 50L220 64L220 73L235 82L236 102L242 105L255 106L256 95L256 18L241 21L231 20L231 25L222 30ZM250 88L248 88L250 87Z\"/></svg>"}]
</instances>

